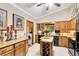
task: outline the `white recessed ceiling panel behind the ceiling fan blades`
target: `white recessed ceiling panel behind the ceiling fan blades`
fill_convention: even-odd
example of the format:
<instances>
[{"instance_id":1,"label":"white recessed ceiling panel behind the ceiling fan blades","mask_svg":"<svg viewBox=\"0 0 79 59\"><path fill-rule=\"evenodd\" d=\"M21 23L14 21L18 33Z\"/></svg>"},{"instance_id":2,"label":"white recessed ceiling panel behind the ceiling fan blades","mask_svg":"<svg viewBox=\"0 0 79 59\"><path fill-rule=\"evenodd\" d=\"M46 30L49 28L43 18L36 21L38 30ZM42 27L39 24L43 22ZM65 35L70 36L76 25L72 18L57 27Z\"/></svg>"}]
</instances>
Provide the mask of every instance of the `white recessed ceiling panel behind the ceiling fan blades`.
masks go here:
<instances>
[{"instance_id":1,"label":"white recessed ceiling panel behind the ceiling fan blades","mask_svg":"<svg viewBox=\"0 0 79 59\"><path fill-rule=\"evenodd\" d=\"M63 10L71 5L69 3L61 3L61 6L57 7L52 4L49 10L46 10L46 4L43 4L39 7L37 7L37 4L38 3L14 3L13 5L15 5L16 7L19 7L21 10L27 12L30 16L36 19L45 17L46 15L55 13L59 10Z\"/></svg>"}]
</instances>

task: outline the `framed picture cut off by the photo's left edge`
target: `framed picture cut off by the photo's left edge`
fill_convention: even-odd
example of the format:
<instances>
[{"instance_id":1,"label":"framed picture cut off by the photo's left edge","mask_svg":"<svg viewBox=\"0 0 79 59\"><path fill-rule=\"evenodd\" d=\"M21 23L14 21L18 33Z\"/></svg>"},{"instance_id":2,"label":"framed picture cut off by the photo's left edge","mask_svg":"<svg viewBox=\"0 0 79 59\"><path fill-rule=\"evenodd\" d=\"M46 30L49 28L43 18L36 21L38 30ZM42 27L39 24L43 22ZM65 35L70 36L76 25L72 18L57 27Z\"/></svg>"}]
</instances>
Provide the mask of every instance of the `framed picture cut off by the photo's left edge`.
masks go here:
<instances>
[{"instance_id":1,"label":"framed picture cut off by the photo's left edge","mask_svg":"<svg viewBox=\"0 0 79 59\"><path fill-rule=\"evenodd\" d=\"M6 30L7 26L7 11L0 9L0 30Z\"/></svg>"}]
</instances>

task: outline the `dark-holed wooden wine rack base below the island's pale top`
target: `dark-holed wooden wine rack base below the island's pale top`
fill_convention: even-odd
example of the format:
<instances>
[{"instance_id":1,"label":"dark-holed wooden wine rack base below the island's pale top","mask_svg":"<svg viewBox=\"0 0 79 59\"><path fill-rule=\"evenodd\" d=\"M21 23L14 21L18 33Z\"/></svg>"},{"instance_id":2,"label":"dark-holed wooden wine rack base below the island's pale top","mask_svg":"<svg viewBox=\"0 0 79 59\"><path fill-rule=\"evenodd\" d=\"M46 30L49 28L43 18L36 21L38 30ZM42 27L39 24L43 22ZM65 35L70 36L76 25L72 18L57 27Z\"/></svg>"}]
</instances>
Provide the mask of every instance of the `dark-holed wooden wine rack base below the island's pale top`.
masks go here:
<instances>
[{"instance_id":1,"label":"dark-holed wooden wine rack base below the island's pale top","mask_svg":"<svg viewBox=\"0 0 79 59\"><path fill-rule=\"evenodd\" d=\"M40 42L40 54L41 56L52 56L53 55L53 42Z\"/></svg>"}]
</instances>

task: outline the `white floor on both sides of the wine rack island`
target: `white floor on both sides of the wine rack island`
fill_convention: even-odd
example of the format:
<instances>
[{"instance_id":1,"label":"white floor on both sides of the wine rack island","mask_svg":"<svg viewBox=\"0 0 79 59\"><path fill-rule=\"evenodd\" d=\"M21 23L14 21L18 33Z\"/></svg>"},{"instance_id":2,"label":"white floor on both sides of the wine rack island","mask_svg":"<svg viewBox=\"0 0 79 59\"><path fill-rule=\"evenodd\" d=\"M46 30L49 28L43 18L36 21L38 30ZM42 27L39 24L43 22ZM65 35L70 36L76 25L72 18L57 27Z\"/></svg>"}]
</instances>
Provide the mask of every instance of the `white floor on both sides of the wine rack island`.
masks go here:
<instances>
[{"instance_id":1,"label":"white floor on both sides of the wine rack island","mask_svg":"<svg viewBox=\"0 0 79 59\"><path fill-rule=\"evenodd\" d=\"M53 46L53 56L70 56L68 49L63 47ZM40 56L40 44L35 43L28 50L26 56Z\"/></svg>"}]
</instances>

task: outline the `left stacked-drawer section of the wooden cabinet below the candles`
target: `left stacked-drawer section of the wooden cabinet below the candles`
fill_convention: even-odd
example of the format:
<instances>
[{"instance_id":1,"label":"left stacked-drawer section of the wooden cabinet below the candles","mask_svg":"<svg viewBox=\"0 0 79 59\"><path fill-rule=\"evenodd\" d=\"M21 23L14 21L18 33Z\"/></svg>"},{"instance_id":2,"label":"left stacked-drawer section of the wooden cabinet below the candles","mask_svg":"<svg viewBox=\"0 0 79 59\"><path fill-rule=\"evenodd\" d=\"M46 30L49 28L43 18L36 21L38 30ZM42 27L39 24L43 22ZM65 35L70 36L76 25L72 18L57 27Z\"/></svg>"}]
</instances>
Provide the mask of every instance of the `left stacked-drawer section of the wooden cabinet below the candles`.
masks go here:
<instances>
[{"instance_id":1,"label":"left stacked-drawer section of the wooden cabinet below the candles","mask_svg":"<svg viewBox=\"0 0 79 59\"><path fill-rule=\"evenodd\" d=\"M14 56L14 46L8 46L0 49L0 55L2 56Z\"/></svg>"}]
</instances>

